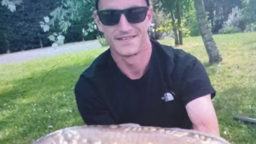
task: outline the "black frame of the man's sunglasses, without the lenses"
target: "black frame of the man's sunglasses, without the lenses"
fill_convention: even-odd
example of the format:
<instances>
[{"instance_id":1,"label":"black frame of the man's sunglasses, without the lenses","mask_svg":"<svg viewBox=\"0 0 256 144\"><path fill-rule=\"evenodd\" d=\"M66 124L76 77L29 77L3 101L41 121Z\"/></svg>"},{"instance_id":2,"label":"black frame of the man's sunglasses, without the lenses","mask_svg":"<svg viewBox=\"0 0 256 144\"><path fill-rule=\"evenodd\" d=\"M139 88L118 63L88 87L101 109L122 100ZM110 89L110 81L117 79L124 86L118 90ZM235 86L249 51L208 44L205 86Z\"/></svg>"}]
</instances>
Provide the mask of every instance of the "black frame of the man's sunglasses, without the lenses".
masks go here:
<instances>
[{"instance_id":1,"label":"black frame of the man's sunglasses, without the lenses","mask_svg":"<svg viewBox=\"0 0 256 144\"><path fill-rule=\"evenodd\" d=\"M128 14L131 10L133 10L133 9L143 9L143 11L145 11L145 13L144 13L145 15L143 15L143 16L145 16L145 17L143 17L143 19L141 19L141 20L131 21L131 20L129 19L129 16L128 16L127 14ZM125 15L125 18L126 18L126 20L127 20L128 22L130 22L130 23L140 23L140 22L142 22L143 20L145 20L145 18L146 18L146 16L147 16L148 10L149 10L149 7L148 7L148 6L135 6L135 7L129 7L129 8L127 8L127 9L123 9L123 10L118 10L118 9L100 10L100 11L97 11L97 15L98 15L99 20L101 21L101 23L102 23L103 25L106 25L106 26L115 26L115 25L117 25L117 24L119 23L122 14ZM110 22L109 22L109 23L103 22L103 21L104 21L104 20L103 20L104 16L101 15L101 14L104 13L104 12L108 12L108 11L116 12L116 13L117 13L116 15L118 16L118 18L116 19L116 21L115 21L114 23L112 23L112 24L111 24Z\"/></svg>"}]
</instances>

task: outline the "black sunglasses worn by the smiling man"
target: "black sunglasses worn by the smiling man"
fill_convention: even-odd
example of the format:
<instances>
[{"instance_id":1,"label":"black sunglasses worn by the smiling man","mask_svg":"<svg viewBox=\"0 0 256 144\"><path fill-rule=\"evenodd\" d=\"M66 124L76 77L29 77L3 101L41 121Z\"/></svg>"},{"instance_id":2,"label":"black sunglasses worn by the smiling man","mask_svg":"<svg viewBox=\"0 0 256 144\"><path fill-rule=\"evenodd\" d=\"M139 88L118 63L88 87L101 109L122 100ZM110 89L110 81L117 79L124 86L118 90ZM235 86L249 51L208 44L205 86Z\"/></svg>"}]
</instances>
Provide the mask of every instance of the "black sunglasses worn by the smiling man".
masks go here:
<instances>
[{"instance_id":1,"label":"black sunglasses worn by the smiling man","mask_svg":"<svg viewBox=\"0 0 256 144\"><path fill-rule=\"evenodd\" d=\"M124 10L101 10L97 11L97 15L103 25L114 26L119 23L122 13L130 23L140 23L145 20L148 6L130 7Z\"/></svg>"}]
</instances>

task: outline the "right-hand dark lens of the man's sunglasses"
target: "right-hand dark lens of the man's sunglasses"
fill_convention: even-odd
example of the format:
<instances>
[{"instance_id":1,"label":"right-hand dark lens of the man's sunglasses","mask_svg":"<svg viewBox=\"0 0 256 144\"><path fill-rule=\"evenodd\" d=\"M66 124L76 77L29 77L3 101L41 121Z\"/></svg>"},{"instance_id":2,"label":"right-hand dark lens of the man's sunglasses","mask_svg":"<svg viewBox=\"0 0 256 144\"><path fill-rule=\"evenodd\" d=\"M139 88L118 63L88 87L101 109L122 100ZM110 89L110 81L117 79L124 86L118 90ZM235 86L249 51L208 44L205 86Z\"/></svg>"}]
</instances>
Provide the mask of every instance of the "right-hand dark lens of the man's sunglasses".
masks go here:
<instances>
[{"instance_id":1,"label":"right-hand dark lens of the man's sunglasses","mask_svg":"<svg viewBox=\"0 0 256 144\"><path fill-rule=\"evenodd\" d=\"M148 7L133 7L127 10L125 14L130 23L140 23L145 20Z\"/></svg>"}]
</instances>

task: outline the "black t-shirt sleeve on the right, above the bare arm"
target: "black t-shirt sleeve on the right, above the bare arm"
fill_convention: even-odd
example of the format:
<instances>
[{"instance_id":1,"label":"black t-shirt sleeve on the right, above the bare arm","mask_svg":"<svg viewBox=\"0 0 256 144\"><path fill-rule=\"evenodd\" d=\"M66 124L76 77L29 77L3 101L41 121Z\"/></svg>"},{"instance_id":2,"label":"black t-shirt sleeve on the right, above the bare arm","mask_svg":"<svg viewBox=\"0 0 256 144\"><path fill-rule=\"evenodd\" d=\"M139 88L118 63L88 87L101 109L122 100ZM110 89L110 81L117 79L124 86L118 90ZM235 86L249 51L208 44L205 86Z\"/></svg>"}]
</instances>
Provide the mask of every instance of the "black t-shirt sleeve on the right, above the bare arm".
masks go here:
<instances>
[{"instance_id":1,"label":"black t-shirt sleeve on the right, above the bare arm","mask_svg":"<svg viewBox=\"0 0 256 144\"><path fill-rule=\"evenodd\" d=\"M204 66L197 59L190 61L185 68L181 85L182 100L185 105L207 94L211 94L214 98L216 94Z\"/></svg>"}]
</instances>

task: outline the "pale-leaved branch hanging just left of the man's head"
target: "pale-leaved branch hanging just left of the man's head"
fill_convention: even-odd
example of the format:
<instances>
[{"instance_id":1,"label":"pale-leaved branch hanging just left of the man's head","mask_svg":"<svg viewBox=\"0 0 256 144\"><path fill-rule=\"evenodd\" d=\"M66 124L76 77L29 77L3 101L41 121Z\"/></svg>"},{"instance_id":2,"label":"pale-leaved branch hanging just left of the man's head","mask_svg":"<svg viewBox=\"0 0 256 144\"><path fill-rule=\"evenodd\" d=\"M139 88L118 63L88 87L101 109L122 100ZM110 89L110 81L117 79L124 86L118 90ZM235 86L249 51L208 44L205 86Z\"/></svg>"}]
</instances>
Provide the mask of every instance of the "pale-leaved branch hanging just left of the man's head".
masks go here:
<instances>
[{"instance_id":1,"label":"pale-leaved branch hanging just left of the man's head","mask_svg":"<svg viewBox=\"0 0 256 144\"><path fill-rule=\"evenodd\" d=\"M40 22L40 24L44 31L49 30L50 27L58 25L58 32L67 34L67 30L71 26L71 21L81 21L81 19L87 19L87 29L81 29L84 37L97 29L92 17L93 10L94 5L90 0L62 1L62 5L58 6L50 13L52 18L49 20L49 17L46 17L47 22ZM51 37L52 36L53 35L51 35Z\"/></svg>"}]
</instances>

